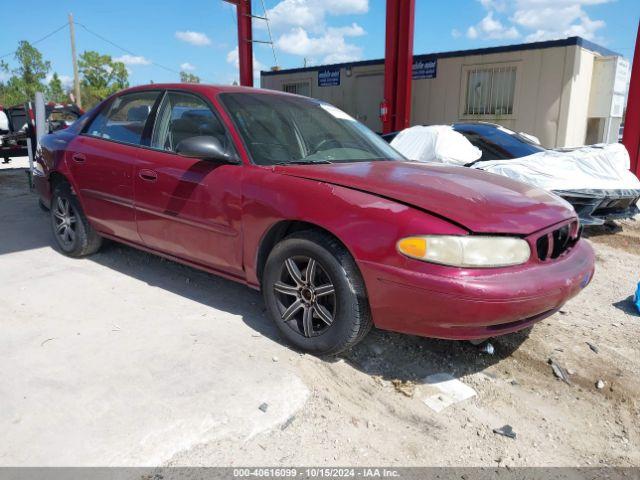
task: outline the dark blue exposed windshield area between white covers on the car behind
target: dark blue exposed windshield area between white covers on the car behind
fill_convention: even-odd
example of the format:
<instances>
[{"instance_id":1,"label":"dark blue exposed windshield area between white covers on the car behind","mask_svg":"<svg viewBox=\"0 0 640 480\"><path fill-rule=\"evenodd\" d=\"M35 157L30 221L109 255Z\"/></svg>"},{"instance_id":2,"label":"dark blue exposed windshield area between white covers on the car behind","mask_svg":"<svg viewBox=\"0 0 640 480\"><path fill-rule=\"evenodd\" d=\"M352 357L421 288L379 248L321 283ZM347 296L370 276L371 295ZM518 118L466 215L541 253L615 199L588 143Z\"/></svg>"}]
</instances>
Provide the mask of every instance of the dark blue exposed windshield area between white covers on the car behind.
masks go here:
<instances>
[{"instance_id":1,"label":"dark blue exposed windshield area between white covers on the car behind","mask_svg":"<svg viewBox=\"0 0 640 480\"><path fill-rule=\"evenodd\" d=\"M482 151L480 161L508 160L544 151L541 146L501 126L459 123L453 128Z\"/></svg>"}]
</instances>

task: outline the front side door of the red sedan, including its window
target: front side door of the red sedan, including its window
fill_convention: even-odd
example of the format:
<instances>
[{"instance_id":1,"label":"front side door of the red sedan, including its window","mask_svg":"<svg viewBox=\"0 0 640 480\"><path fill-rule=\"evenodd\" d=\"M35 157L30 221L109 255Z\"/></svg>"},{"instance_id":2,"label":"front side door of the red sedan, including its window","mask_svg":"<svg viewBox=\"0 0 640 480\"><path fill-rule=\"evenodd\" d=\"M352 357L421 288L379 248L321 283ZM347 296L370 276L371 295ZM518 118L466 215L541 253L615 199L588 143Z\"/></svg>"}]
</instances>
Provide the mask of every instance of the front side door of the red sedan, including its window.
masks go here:
<instances>
[{"instance_id":1,"label":"front side door of the red sedan, including its window","mask_svg":"<svg viewBox=\"0 0 640 480\"><path fill-rule=\"evenodd\" d=\"M149 248L197 264L242 274L241 164L220 164L178 155L195 136L216 137L234 149L210 102L167 91L158 107L150 148L135 174L138 232Z\"/></svg>"}]
</instances>

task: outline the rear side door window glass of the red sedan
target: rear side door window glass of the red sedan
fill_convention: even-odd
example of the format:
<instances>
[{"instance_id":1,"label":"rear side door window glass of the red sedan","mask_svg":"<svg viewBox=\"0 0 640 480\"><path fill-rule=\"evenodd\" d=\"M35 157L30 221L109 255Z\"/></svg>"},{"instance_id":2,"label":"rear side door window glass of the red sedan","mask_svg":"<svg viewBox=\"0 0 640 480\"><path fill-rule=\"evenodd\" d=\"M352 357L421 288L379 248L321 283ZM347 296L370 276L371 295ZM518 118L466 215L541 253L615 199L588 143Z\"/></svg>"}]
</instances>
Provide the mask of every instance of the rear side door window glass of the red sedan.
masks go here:
<instances>
[{"instance_id":1,"label":"rear side door window glass of the red sedan","mask_svg":"<svg viewBox=\"0 0 640 480\"><path fill-rule=\"evenodd\" d=\"M160 92L135 92L116 97L87 129L93 137L140 145L142 132Z\"/></svg>"}]
</instances>

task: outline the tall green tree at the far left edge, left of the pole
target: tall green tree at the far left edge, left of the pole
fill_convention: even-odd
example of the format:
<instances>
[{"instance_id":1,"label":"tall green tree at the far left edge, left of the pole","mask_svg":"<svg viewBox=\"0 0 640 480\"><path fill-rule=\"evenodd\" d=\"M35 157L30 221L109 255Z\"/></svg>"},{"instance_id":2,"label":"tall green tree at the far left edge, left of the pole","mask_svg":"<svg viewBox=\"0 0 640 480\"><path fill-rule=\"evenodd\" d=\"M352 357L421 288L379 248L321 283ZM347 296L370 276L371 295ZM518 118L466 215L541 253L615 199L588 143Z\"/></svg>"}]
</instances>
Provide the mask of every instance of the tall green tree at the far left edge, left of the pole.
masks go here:
<instances>
[{"instance_id":1,"label":"tall green tree at the far left edge, left of the pole","mask_svg":"<svg viewBox=\"0 0 640 480\"><path fill-rule=\"evenodd\" d=\"M0 103L14 105L33 100L37 91L45 93L47 86L44 79L51 70L51 63L42 58L40 51L29 42L18 43L15 60L17 67L11 70L7 83L0 83ZM6 63L0 70L8 71Z\"/></svg>"}]
</instances>

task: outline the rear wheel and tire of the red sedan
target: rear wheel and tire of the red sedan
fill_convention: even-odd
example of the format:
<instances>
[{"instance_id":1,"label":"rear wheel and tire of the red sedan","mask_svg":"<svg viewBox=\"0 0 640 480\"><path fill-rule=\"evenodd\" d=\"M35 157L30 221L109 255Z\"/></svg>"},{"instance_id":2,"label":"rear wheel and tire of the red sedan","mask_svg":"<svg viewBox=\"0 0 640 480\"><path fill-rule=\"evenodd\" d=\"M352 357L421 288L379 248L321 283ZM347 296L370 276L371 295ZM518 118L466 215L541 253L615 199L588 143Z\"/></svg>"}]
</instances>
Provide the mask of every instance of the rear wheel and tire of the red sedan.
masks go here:
<instances>
[{"instance_id":1,"label":"rear wheel and tire of the red sedan","mask_svg":"<svg viewBox=\"0 0 640 480\"><path fill-rule=\"evenodd\" d=\"M102 237L89 224L68 183L55 186L50 216L53 238L65 255L84 257L100 249Z\"/></svg>"}]
</instances>

